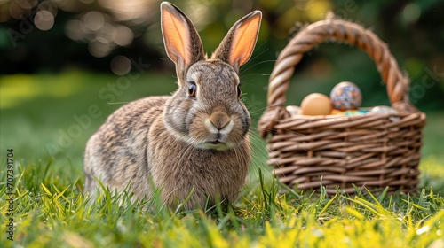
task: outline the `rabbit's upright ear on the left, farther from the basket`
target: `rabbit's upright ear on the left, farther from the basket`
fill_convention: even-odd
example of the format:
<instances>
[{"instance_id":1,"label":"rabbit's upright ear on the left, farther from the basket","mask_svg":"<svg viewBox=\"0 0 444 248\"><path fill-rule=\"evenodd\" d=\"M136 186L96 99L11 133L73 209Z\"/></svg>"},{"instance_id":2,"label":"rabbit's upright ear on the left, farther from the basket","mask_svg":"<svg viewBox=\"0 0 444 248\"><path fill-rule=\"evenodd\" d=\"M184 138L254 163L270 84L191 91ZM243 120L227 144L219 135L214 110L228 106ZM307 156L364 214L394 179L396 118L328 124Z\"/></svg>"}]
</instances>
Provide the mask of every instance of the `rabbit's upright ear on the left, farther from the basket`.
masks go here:
<instances>
[{"instance_id":1,"label":"rabbit's upright ear on the left, farther from the basket","mask_svg":"<svg viewBox=\"0 0 444 248\"><path fill-rule=\"evenodd\" d=\"M195 62L204 59L201 37L184 12L174 4L161 4L163 43L168 57L176 64L179 81Z\"/></svg>"}]
</instances>

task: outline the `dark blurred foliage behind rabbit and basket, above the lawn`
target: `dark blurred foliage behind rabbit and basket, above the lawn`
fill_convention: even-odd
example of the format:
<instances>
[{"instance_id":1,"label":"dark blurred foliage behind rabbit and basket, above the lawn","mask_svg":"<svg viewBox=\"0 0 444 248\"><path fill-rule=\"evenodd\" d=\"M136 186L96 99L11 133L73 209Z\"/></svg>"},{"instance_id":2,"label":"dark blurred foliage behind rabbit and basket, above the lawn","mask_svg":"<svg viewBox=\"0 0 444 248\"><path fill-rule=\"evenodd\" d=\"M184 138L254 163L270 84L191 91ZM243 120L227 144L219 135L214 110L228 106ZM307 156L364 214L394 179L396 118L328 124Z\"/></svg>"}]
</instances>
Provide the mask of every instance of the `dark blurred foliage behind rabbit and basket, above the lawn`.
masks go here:
<instances>
[{"instance_id":1,"label":"dark blurred foliage behind rabbit and basket, above the lawn","mask_svg":"<svg viewBox=\"0 0 444 248\"><path fill-rule=\"evenodd\" d=\"M261 10L264 19L258 45L242 75L253 78L251 75L259 74L264 80L291 36L333 11L339 18L369 27L388 43L400 68L412 80L414 105L423 111L444 108L444 2L440 0L173 2L194 21L209 52L235 20ZM0 0L0 74L81 71L120 76L129 73L131 60L140 60L149 65L147 72L172 76L173 64L163 49L159 4L154 0ZM295 102L290 104L298 105L300 97L313 91L329 93L339 81L357 83L364 92L364 105L389 104L368 56L333 43L316 47L297 66L295 83L289 90L289 95L295 96L289 98ZM255 86L266 87L262 81ZM11 105L5 101L4 107Z\"/></svg>"}]
</instances>

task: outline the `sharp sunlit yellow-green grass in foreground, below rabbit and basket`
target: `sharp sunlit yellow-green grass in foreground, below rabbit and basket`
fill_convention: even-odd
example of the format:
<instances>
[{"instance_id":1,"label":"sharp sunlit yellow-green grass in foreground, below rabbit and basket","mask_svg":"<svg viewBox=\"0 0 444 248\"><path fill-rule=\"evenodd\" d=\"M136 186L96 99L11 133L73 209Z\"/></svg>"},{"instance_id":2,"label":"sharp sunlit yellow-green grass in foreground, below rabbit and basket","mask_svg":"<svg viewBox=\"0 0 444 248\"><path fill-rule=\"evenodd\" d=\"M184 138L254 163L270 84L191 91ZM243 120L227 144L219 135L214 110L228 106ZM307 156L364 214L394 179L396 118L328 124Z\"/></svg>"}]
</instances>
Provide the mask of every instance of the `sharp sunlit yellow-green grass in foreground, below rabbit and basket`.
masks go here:
<instances>
[{"instance_id":1,"label":"sharp sunlit yellow-green grass in foreground, below rabbit and basket","mask_svg":"<svg viewBox=\"0 0 444 248\"><path fill-rule=\"evenodd\" d=\"M82 194L83 179L63 167L17 163L14 242L26 247L442 247L444 198L300 196L277 182L250 185L226 213L174 212L158 198L131 203L111 192ZM260 175L260 174L259 174ZM260 180L259 180L260 181ZM4 182L4 176L2 176ZM2 187L2 189L4 189ZM281 190L281 193L278 191ZM0 191L4 198L5 190ZM149 206L149 207L147 207ZM4 213L7 206L0 206ZM148 209L148 210L147 210ZM0 231L5 232L5 225ZM432 245L432 246L429 246Z\"/></svg>"}]
</instances>

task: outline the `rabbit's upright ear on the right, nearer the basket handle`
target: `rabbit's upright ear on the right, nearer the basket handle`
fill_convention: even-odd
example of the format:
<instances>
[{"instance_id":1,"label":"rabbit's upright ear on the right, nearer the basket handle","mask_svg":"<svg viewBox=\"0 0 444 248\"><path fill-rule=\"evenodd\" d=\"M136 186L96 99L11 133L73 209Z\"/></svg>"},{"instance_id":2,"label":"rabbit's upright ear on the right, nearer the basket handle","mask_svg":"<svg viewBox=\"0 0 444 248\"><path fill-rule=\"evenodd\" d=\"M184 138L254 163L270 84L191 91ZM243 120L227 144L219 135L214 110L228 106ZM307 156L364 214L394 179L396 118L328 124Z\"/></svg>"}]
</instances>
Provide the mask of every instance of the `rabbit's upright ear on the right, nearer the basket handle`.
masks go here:
<instances>
[{"instance_id":1,"label":"rabbit's upright ear on the right, nearer the basket handle","mask_svg":"<svg viewBox=\"0 0 444 248\"><path fill-rule=\"evenodd\" d=\"M234 67L236 72L251 57L258 40L262 12L254 11L234 23L211 58L218 58Z\"/></svg>"}]
</instances>

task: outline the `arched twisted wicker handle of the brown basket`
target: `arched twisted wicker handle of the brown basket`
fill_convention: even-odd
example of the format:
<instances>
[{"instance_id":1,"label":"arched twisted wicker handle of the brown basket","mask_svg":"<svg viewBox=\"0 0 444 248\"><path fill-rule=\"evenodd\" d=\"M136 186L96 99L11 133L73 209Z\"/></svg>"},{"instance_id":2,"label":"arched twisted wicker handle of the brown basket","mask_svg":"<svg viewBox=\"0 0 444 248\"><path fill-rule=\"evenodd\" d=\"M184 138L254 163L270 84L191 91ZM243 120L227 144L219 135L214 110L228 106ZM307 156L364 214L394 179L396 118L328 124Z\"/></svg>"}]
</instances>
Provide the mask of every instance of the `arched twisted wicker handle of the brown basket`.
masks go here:
<instances>
[{"instance_id":1,"label":"arched twisted wicker handle of the brown basket","mask_svg":"<svg viewBox=\"0 0 444 248\"><path fill-rule=\"evenodd\" d=\"M387 45L369 29L353 22L335 19L333 14L329 13L326 19L317 21L297 33L279 54L268 81L266 112L258 123L261 136L266 137L277 120L289 117L284 107L287 101L285 93L289 89L289 79L294 73L294 68L306 51L328 39L365 50L377 64L377 70L387 86L392 107L400 112L417 112L408 100L408 77L400 72L400 67Z\"/></svg>"}]
</instances>

